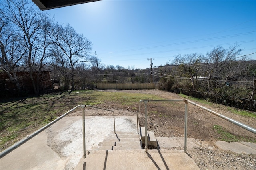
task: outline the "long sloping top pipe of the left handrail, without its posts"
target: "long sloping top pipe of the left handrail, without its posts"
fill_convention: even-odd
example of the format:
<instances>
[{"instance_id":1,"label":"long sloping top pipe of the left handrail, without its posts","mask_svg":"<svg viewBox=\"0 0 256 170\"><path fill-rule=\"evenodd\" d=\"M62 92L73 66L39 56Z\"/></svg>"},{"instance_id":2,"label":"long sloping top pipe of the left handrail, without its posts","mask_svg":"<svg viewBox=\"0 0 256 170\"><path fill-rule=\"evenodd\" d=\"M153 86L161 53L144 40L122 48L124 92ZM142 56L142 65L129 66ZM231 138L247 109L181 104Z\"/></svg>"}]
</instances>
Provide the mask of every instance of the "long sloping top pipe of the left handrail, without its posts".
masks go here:
<instances>
[{"instance_id":1,"label":"long sloping top pipe of the left handrail, without its posts","mask_svg":"<svg viewBox=\"0 0 256 170\"><path fill-rule=\"evenodd\" d=\"M27 137L25 137L24 139L18 141L17 143L15 143L14 145L10 146L9 148L7 148L6 150L2 151L0 153L0 158L4 157L6 154L12 152L12 150L18 148L20 145L24 144L25 142L27 142L28 140L30 140L32 137L38 135L40 132L44 131L46 128L50 127L51 125L53 125L54 123L56 123L57 121L59 121L60 119L62 119L63 117L65 117L66 115L68 115L69 113L71 113L72 111L74 111L75 109L77 109L78 107L80 107L80 105L74 107L73 109L71 109L70 111L66 112L64 115L58 117L57 119L55 119L54 121L50 122L49 124L45 125L44 127L42 127L41 129L38 129L37 131L35 131L34 133L28 135Z\"/></svg>"}]
</instances>

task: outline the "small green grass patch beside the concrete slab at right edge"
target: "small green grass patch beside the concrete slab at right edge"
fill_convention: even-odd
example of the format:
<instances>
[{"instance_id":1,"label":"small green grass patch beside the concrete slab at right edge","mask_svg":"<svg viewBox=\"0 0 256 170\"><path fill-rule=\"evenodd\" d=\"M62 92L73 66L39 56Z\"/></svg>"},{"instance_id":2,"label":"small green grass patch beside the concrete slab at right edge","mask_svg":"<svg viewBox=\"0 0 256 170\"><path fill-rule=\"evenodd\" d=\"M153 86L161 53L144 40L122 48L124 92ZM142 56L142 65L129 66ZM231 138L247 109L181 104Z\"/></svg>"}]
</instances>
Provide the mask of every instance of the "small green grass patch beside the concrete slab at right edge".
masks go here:
<instances>
[{"instance_id":1,"label":"small green grass patch beside the concrete slab at right edge","mask_svg":"<svg viewBox=\"0 0 256 170\"><path fill-rule=\"evenodd\" d=\"M245 142L253 142L256 143L256 139L250 137L236 136L228 132L222 126L214 125L213 129L216 130L218 134L220 134L219 140L226 142L237 142L237 141L245 141Z\"/></svg>"}]
</instances>

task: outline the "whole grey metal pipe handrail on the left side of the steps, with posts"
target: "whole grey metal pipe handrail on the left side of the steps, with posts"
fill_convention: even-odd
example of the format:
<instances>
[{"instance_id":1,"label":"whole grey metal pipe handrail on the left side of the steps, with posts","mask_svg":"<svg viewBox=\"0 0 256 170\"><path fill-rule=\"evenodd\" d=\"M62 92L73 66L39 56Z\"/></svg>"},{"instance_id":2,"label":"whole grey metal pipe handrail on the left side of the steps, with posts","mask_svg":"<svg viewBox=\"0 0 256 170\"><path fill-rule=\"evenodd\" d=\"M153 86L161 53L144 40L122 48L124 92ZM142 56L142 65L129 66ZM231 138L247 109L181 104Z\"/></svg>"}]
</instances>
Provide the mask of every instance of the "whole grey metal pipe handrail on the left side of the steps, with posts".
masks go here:
<instances>
[{"instance_id":1,"label":"whole grey metal pipe handrail on the left side of the steps, with posts","mask_svg":"<svg viewBox=\"0 0 256 170\"><path fill-rule=\"evenodd\" d=\"M65 114L61 115L60 117L58 117L57 119L55 119L54 121L48 123L47 125L45 125L44 127L42 127L41 129L38 129L37 131L35 131L34 133L28 135L27 137L25 137L24 139L18 141L17 143L15 143L14 145L8 147L6 150L0 152L0 158L6 156L8 153L12 152L12 150L20 147L22 144L26 143L28 140L32 139L33 137L35 137L36 135L38 135L40 132L44 131L45 129L47 129L48 127L50 127L51 125L53 125L54 123L56 123L57 121L59 121L60 119L62 119L63 117L65 117L66 115L68 115L69 113L71 113L72 111L74 111L75 109L81 107L82 108L82 119L83 119L83 150L84 150L84 158L86 158L86 152L85 152L85 116L84 116L84 110L85 107L93 107L96 109L102 109L102 110L106 110L106 111L112 111L112 110L108 110L108 109L103 109L100 107L95 107L95 106L91 106L91 105L78 105L76 107L74 107L73 109L71 109L70 111L66 112ZM115 112L113 112L114 115L114 133L116 133L116 125L115 125Z\"/></svg>"}]
</instances>

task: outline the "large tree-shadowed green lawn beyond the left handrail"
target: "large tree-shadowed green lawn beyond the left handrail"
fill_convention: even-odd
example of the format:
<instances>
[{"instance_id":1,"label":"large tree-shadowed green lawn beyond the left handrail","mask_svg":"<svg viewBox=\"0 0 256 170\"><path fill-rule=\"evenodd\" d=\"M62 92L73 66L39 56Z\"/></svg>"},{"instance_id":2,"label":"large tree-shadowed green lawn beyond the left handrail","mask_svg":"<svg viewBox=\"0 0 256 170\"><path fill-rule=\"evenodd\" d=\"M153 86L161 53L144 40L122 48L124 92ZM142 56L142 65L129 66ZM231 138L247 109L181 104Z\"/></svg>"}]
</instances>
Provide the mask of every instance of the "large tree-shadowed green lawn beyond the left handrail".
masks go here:
<instances>
[{"instance_id":1,"label":"large tree-shadowed green lawn beyond the left handrail","mask_svg":"<svg viewBox=\"0 0 256 170\"><path fill-rule=\"evenodd\" d=\"M24 133L24 129L26 133L32 133L78 105L93 106L106 102L118 102L136 110L134 105L138 105L140 100L147 99L162 98L152 94L77 90L17 98L10 101L1 100L0 151L16 142L19 135ZM6 142L8 146L5 145Z\"/></svg>"}]
</instances>

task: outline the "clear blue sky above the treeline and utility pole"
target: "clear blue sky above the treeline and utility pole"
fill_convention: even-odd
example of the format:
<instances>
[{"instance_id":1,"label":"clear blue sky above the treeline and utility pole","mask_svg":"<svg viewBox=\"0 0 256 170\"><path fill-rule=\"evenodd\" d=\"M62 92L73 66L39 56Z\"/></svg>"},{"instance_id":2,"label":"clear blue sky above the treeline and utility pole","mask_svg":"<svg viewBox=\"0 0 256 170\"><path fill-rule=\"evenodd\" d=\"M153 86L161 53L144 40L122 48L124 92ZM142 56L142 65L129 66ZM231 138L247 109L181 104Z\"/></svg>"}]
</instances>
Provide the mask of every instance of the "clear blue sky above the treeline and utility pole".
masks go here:
<instances>
[{"instance_id":1,"label":"clear blue sky above the treeline and utility pole","mask_svg":"<svg viewBox=\"0 0 256 170\"><path fill-rule=\"evenodd\" d=\"M106 66L150 68L150 58L165 65L234 43L241 56L256 52L255 0L102 0L44 12L92 41Z\"/></svg>"}]
</instances>

